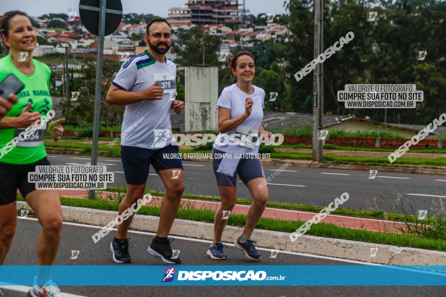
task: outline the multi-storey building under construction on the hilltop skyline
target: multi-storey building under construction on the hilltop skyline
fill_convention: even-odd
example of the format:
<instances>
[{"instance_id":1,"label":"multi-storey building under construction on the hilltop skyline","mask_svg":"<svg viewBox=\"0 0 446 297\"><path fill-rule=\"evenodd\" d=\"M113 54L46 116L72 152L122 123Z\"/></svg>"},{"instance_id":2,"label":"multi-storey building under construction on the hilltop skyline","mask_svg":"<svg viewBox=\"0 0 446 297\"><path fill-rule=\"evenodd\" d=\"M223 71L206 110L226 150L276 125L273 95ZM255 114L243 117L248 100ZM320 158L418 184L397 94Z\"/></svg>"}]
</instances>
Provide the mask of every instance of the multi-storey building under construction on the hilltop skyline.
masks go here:
<instances>
[{"instance_id":1,"label":"multi-storey building under construction on the hilltop skyline","mask_svg":"<svg viewBox=\"0 0 446 297\"><path fill-rule=\"evenodd\" d=\"M243 6L238 0L189 0L187 6L169 9L169 20L172 26L243 24L250 14Z\"/></svg>"}]
</instances>

